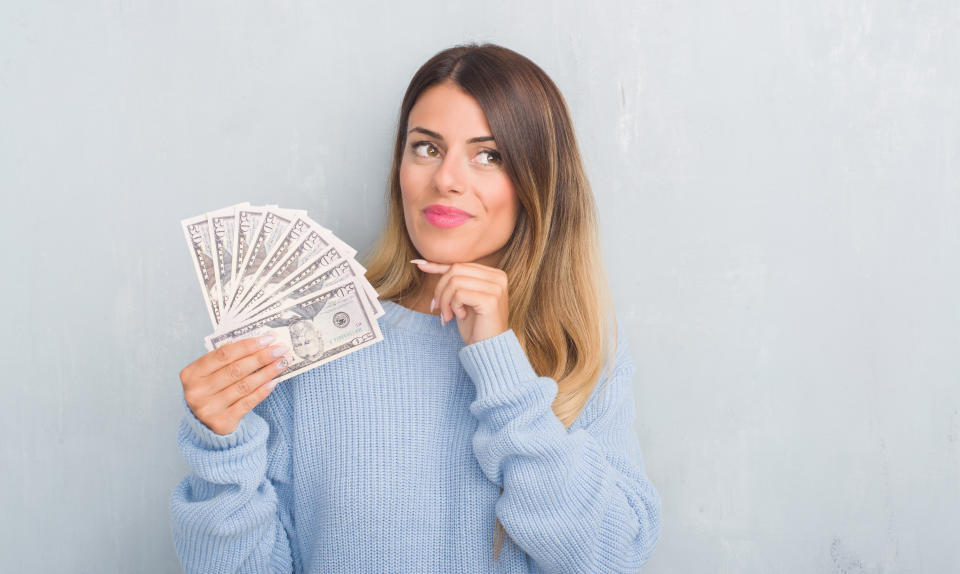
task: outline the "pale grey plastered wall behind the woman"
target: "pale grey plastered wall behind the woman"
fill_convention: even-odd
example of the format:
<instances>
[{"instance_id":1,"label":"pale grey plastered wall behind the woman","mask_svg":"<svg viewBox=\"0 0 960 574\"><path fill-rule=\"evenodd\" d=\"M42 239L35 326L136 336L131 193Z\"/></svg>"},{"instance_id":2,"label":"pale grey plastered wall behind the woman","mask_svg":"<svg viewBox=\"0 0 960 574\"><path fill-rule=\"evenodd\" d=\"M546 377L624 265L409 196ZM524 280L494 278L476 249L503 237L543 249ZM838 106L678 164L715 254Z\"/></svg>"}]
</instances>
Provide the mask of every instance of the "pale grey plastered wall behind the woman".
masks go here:
<instances>
[{"instance_id":1,"label":"pale grey plastered wall behind the woman","mask_svg":"<svg viewBox=\"0 0 960 574\"><path fill-rule=\"evenodd\" d=\"M6 1L0 570L177 572L181 218L383 222L400 98L566 95L663 497L647 572L960 568L960 5Z\"/></svg>"}]
</instances>

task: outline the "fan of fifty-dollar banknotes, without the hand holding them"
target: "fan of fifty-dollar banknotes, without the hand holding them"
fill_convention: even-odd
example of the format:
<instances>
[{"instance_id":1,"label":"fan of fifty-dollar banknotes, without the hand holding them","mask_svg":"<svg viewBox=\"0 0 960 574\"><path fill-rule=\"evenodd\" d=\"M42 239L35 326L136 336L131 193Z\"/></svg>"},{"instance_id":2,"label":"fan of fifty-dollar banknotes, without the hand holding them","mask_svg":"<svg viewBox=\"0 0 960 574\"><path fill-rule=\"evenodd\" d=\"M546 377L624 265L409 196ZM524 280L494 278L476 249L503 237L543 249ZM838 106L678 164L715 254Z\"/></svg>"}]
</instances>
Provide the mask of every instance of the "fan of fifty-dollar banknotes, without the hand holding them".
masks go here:
<instances>
[{"instance_id":1,"label":"fan of fifty-dollar banknotes, without the hand holding them","mask_svg":"<svg viewBox=\"0 0 960 574\"><path fill-rule=\"evenodd\" d=\"M305 211L240 203L180 225L213 323L207 349L269 333L290 349L282 381L383 340L356 250Z\"/></svg>"}]
</instances>

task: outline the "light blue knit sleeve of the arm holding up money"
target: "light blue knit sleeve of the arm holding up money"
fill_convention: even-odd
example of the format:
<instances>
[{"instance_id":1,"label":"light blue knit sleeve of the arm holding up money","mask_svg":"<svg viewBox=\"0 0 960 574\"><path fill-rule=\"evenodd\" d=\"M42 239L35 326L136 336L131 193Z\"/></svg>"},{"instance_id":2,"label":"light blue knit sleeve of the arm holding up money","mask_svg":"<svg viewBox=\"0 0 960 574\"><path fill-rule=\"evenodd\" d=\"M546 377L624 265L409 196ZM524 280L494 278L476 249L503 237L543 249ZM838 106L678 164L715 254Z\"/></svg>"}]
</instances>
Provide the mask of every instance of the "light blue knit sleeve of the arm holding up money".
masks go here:
<instances>
[{"instance_id":1,"label":"light blue knit sleeve of the arm holding up money","mask_svg":"<svg viewBox=\"0 0 960 574\"><path fill-rule=\"evenodd\" d=\"M177 445L190 473L174 489L170 512L185 572L295 571L289 441L278 408L287 386L227 435L210 430L183 401Z\"/></svg>"}]
</instances>

